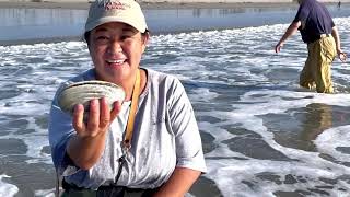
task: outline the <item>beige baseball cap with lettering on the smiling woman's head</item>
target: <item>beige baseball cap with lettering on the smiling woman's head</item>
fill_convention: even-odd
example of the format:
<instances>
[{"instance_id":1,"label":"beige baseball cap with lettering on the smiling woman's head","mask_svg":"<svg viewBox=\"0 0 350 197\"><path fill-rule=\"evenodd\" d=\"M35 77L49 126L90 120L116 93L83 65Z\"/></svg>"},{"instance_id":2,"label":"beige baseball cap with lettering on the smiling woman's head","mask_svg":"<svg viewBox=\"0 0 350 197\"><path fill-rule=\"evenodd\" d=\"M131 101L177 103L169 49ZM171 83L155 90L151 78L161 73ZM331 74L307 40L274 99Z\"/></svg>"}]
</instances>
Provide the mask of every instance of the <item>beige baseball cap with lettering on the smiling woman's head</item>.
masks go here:
<instances>
[{"instance_id":1,"label":"beige baseball cap with lettering on the smiling woman's head","mask_svg":"<svg viewBox=\"0 0 350 197\"><path fill-rule=\"evenodd\" d=\"M92 2L85 23L85 32L109 22L121 22L141 33L147 27L141 7L135 0L96 0Z\"/></svg>"}]
</instances>

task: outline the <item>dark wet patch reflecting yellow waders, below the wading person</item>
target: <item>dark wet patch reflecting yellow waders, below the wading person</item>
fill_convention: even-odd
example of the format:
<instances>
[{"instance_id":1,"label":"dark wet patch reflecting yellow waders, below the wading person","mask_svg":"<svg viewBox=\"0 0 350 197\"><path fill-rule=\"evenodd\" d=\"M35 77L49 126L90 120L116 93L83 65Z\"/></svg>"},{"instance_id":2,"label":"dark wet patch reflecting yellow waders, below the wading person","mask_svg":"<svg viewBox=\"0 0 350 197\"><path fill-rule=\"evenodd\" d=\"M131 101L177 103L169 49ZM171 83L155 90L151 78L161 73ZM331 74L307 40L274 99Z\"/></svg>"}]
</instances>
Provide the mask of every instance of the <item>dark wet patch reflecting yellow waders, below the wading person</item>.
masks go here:
<instances>
[{"instance_id":1,"label":"dark wet patch reflecting yellow waders, below the wading person","mask_svg":"<svg viewBox=\"0 0 350 197\"><path fill-rule=\"evenodd\" d=\"M292 116L276 116L272 124L267 125L273 131L275 140L283 147L311 152L317 151L314 140L323 131L334 126L334 106L312 103L288 113Z\"/></svg>"}]
</instances>

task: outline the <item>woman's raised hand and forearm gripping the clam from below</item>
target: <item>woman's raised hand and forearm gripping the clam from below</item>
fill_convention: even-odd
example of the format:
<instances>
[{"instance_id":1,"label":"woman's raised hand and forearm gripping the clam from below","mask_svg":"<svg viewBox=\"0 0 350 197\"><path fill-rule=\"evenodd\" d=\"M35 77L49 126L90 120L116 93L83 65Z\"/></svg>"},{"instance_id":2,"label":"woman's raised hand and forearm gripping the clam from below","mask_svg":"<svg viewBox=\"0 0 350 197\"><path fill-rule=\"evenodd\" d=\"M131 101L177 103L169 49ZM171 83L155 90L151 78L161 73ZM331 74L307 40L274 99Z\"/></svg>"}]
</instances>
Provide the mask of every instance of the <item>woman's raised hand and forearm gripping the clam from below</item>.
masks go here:
<instances>
[{"instance_id":1,"label":"woman's raised hand and forearm gripping the clam from below","mask_svg":"<svg viewBox=\"0 0 350 197\"><path fill-rule=\"evenodd\" d=\"M69 140L67 153L77 166L89 170L100 160L105 149L108 127L120 108L120 102L115 102L113 111L109 111L105 99L92 100L88 123L84 123L83 105L75 106L72 124L77 136Z\"/></svg>"}]
</instances>

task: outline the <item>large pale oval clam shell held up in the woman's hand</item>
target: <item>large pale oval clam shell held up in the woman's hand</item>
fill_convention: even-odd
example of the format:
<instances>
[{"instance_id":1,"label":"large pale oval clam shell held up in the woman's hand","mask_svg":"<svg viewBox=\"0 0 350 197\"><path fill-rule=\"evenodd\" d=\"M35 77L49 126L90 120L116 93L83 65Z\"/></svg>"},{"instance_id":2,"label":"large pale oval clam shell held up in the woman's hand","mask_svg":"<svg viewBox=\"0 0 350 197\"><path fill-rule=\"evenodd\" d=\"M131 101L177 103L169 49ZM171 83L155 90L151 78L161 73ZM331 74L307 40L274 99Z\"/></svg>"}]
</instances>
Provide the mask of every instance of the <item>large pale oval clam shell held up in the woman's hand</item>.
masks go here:
<instances>
[{"instance_id":1,"label":"large pale oval clam shell held up in the woman's hand","mask_svg":"<svg viewBox=\"0 0 350 197\"><path fill-rule=\"evenodd\" d=\"M112 109L113 103L125 100L125 91L121 86L106 81L82 81L66 86L58 94L58 105L63 111L73 114L77 104L84 105L84 117L88 116L90 101L106 97Z\"/></svg>"}]
</instances>

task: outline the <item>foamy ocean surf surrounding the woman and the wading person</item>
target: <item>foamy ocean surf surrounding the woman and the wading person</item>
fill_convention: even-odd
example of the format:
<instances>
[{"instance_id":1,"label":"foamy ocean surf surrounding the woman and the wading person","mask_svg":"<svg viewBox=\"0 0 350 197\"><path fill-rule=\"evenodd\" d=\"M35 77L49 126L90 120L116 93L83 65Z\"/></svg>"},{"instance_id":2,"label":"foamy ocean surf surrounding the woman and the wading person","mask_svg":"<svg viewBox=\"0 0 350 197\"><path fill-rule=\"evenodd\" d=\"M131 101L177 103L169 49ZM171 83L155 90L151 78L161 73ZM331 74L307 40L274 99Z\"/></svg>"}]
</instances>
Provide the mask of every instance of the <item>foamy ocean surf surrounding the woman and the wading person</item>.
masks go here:
<instances>
[{"instance_id":1,"label":"foamy ocean surf surrounding the woman and the wading person","mask_svg":"<svg viewBox=\"0 0 350 197\"><path fill-rule=\"evenodd\" d=\"M335 18L350 51L350 14ZM208 173L196 197L347 197L350 194L350 63L336 59L336 94L299 88L300 35L289 24L153 35L141 66L175 74L201 131ZM58 85L92 67L86 45L0 46L0 196L54 196L47 139Z\"/></svg>"}]
</instances>

